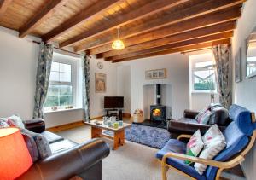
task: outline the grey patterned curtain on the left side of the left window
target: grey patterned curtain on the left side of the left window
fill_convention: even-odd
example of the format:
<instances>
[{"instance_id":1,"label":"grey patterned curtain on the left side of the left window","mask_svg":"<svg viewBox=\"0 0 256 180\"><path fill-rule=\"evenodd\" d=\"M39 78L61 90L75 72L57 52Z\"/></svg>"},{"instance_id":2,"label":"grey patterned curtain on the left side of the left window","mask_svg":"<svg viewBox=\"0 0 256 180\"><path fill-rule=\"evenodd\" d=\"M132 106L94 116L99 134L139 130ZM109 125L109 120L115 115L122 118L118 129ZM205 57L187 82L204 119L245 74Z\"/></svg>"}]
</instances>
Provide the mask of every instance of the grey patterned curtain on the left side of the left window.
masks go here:
<instances>
[{"instance_id":1,"label":"grey patterned curtain on the left side of the left window","mask_svg":"<svg viewBox=\"0 0 256 180\"><path fill-rule=\"evenodd\" d=\"M43 118L44 102L49 86L49 74L52 62L53 46L50 44L40 44L38 57L38 73L36 79L35 107L33 118Z\"/></svg>"}]
</instances>

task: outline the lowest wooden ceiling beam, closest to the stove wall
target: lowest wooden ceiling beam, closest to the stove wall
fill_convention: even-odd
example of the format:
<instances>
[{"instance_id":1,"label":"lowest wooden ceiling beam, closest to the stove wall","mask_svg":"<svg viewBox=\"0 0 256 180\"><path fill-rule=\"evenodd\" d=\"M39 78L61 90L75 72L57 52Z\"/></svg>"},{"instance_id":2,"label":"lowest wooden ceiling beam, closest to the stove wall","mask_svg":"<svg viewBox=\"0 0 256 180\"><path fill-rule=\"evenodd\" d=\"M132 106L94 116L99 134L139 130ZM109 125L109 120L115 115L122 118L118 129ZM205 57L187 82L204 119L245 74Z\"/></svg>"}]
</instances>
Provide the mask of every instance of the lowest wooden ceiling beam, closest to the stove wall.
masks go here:
<instances>
[{"instance_id":1,"label":"lowest wooden ceiling beam, closest to the stove wall","mask_svg":"<svg viewBox=\"0 0 256 180\"><path fill-rule=\"evenodd\" d=\"M172 54L172 53L184 52L184 51L196 50L196 49L207 49L207 48L211 48L212 46L218 45L218 44L230 44L230 38L218 40L218 41L207 42L207 43L202 43L202 44L189 45L189 46L182 47L182 48L167 49L167 50L163 50L163 51L156 52L156 53L155 52L150 53L147 55L137 55L137 56L133 56L130 58L115 60L113 62L131 61L131 60L137 60L137 59L146 58L146 57L152 57L152 56L157 56L157 55L168 55L168 54Z\"/></svg>"}]
</instances>

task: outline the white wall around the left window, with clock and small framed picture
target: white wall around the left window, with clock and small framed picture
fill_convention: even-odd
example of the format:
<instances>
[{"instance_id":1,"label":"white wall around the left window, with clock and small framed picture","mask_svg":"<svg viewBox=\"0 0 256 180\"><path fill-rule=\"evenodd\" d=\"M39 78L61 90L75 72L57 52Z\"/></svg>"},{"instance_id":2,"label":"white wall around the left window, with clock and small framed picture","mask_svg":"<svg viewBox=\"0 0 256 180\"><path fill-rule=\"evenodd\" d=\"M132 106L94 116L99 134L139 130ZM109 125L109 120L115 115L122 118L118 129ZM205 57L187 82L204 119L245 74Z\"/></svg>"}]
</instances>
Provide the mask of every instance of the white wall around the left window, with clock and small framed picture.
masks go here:
<instances>
[{"instance_id":1,"label":"white wall around the left window, with clock and small framed picture","mask_svg":"<svg viewBox=\"0 0 256 180\"><path fill-rule=\"evenodd\" d=\"M28 36L19 38L18 32L0 27L0 117L20 114L22 119L31 119L37 74L39 45ZM96 67L94 57L90 60L90 107L91 117L104 114L103 96L116 96L116 64L102 61L102 70ZM107 92L95 93L95 73L107 74ZM83 110L68 110L46 113L46 127L64 125L83 119Z\"/></svg>"}]
</instances>

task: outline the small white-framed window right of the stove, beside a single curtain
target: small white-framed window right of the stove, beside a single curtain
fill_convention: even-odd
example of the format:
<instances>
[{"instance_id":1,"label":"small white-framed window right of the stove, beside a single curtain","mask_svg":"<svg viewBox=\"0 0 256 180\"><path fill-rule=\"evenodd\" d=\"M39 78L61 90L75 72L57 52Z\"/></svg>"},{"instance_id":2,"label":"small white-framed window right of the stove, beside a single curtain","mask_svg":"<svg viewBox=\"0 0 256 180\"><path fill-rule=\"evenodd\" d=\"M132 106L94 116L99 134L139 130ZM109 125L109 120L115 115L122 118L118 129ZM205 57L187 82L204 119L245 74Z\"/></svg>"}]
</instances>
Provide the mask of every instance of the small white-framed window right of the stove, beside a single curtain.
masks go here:
<instances>
[{"instance_id":1,"label":"small white-framed window right of the stove, beside a single curtain","mask_svg":"<svg viewBox=\"0 0 256 180\"><path fill-rule=\"evenodd\" d=\"M216 91L214 63L212 60L194 61L192 65L193 91Z\"/></svg>"}]
</instances>

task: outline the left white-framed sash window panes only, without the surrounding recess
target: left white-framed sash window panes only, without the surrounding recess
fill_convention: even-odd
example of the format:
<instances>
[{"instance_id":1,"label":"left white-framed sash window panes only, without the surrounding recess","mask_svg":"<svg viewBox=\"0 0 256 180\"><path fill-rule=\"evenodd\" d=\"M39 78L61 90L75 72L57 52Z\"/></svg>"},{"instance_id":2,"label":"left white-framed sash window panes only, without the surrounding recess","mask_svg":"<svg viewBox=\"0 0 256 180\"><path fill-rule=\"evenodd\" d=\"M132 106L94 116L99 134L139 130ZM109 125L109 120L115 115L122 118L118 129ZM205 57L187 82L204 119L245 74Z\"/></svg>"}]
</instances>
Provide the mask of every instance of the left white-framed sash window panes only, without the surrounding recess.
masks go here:
<instances>
[{"instance_id":1,"label":"left white-framed sash window panes only, without the surrounding recess","mask_svg":"<svg viewBox=\"0 0 256 180\"><path fill-rule=\"evenodd\" d=\"M44 107L73 106L72 65L52 62Z\"/></svg>"}]
</instances>

